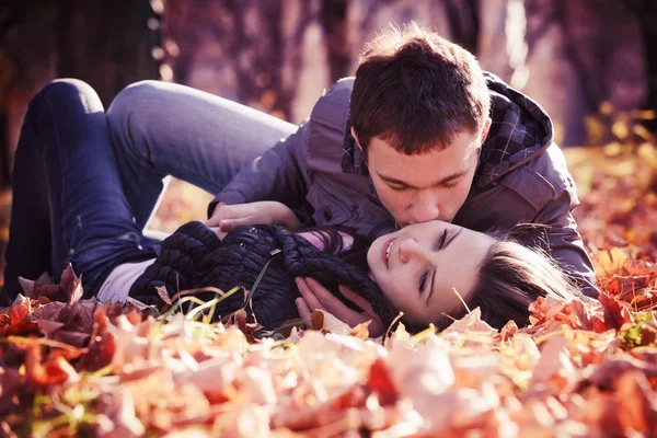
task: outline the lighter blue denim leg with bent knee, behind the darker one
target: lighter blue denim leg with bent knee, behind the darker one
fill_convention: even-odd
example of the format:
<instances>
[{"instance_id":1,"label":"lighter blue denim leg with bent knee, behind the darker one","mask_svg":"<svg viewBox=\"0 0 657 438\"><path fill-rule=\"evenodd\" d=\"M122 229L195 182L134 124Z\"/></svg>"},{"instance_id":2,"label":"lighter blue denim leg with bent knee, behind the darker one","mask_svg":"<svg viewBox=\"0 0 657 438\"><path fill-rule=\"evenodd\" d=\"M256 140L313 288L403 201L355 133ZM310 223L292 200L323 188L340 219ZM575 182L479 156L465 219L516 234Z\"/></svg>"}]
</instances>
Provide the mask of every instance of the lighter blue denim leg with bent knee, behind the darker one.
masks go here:
<instances>
[{"instance_id":1,"label":"lighter blue denim leg with bent knee, behind the darker one","mask_svg":"<svg viewBox=\"0 0 657 438\"><path fill-rule=\"evenodd\" d=\"M138 226L173 175L219 193L246 164L297 130L260 111L188 87L142 81L122 91L107 120Z\"/></svg>"}]
</instances>

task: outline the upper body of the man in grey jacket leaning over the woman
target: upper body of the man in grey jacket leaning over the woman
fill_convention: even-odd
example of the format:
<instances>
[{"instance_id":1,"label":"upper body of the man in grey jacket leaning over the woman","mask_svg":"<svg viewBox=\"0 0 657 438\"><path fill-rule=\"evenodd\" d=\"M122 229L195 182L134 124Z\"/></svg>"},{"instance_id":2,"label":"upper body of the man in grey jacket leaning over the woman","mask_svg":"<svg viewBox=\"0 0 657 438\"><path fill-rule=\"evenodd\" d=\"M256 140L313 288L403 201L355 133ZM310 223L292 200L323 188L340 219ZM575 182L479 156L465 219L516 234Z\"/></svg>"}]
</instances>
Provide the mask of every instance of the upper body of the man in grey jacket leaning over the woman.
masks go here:
<instances>
[{"instance_id":1,"label":"upper body of the man in grey jacket leaning over the woman","mask_svg":"<svg viewBox=\"0 0 657 438\"><path fill-rule=\"evenodd\" d=\"M309 122L218 194L207 224L268 220L266 208L245 204L265 199L370 239L433 219L479 231L542 223L545 249L596 296L570 215L575 185L552 136L541 107L483 73L470 53L415 24L391 28L361 55L355 79L335 84ZM319 285L300 288L307 300L316 295L311 308L339 316Z\"/></svg>"}]
</instances>

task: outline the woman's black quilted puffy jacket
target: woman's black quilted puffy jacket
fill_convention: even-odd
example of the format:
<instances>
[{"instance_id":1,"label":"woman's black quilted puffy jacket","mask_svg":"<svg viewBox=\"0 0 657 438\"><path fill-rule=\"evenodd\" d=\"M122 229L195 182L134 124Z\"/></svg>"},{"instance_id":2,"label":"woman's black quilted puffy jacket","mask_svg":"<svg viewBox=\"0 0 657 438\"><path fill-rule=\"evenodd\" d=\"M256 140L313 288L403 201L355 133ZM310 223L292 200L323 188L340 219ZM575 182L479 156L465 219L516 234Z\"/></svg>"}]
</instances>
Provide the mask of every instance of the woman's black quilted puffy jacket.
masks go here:
<instances>
[{"instance_id":1,"label":"woman's black quilted puffy jacket","mask_svg":"<svg viewBox=\"0 0 657 438\"><path fill-rule=\"evenodd\" d=\"M278 226L237 227L219 240L204 223L188 222L162 242L160 255L132 285L129 295L155 304L160 301L155 286L162 284L170 296L207 286L223 291L234 286L250 290L269 261L252 297L254 314L266 330L299 318L296 277L313 277L335 295L339 293L337 285L345 285L372 304L385 326L392 322L392 309L366 273ZM210 292L196 296L204 300L216 297ZM218 304L217 312L226 315L243 304L244 295L234 293Z\"/></svg>"}]
</instances>

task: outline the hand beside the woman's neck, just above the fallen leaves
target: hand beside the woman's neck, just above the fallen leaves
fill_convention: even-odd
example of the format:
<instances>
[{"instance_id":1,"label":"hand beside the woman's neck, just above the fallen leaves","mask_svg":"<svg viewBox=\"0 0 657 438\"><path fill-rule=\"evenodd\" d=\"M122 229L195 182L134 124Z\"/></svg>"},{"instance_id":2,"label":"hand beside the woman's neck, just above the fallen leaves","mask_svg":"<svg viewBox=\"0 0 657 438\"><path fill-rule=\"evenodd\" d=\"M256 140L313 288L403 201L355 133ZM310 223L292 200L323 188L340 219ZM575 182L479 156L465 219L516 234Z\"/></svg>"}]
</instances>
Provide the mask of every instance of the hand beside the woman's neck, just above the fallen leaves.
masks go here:
<instances>
[{"instance_id":1,"label":"hand beside the woman's neck, just above the fallen leaves","mask_svg":"<svg viewBox=\"0 0 657 438\"><path fill-rule=\"evenodd\" d=\"M358 306L361 311L355 311L345 306L337 297L333 296L330 290L320 285L313 278L296 278L297 287L303 298L297 298L295 303L299 315L303 321L310 321L310 315L314 310L323 310L333 314L335 318L348 324L350 327L370 321L371 324L367 327L370 337L379 337L383 335L385 327L381 318L372 310L371 304L361 296L354 292L351 289L339 286L339 291L346 299Z\"/></svg>"}]
</instances>

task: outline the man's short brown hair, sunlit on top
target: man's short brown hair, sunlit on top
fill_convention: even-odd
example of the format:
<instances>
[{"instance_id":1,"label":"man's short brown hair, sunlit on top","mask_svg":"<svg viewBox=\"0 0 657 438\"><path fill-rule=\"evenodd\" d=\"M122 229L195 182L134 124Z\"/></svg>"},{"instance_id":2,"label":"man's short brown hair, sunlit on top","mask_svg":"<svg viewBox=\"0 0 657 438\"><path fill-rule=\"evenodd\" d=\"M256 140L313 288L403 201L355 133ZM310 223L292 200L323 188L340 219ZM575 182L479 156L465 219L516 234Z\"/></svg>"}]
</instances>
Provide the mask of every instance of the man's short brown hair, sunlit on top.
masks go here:
<instances>
[{"instance_id":1,"label":"man's short brown hair, sunlit on top","mask_svg":"<svg viewBox=\"0 0 657 438\"><path fill-rule=\"evenodd\" d=\"M474 56L412 22L381 32L360 54L349 111L364 150L379 137L412 155L480 132L489 107Z\"/></svg>"}]
</instances>

